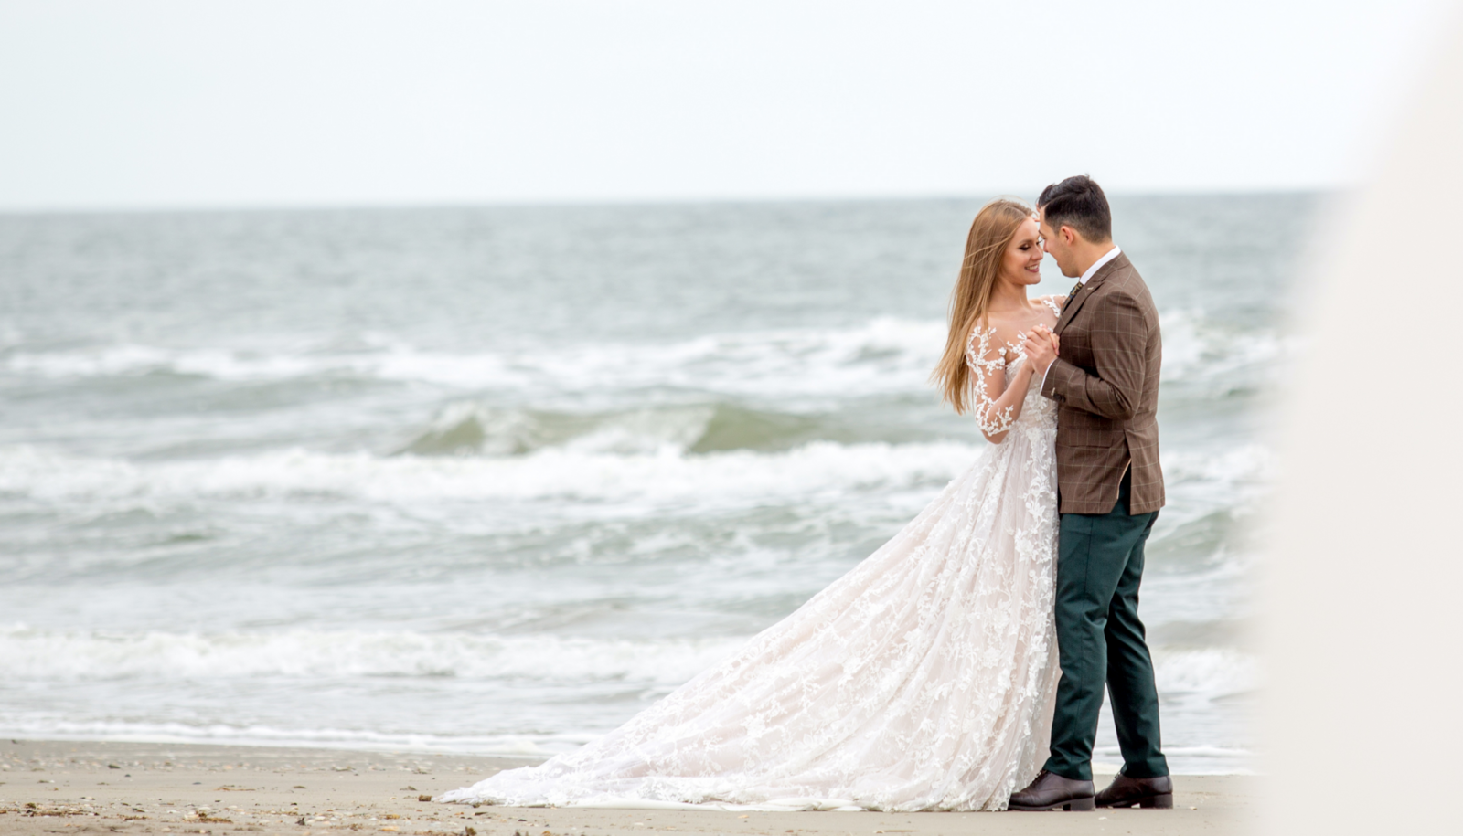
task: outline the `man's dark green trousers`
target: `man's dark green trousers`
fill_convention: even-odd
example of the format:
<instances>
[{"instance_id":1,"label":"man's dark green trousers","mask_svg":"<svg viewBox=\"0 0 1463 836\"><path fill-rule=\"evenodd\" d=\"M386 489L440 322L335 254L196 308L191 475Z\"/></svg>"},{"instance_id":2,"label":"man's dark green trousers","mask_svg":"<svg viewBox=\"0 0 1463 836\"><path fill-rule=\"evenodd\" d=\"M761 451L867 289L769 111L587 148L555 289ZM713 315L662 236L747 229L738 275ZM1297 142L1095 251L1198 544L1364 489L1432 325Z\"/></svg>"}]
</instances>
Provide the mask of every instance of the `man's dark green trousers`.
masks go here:
<instances>
[{"instance_id":1,"label":"man's dark green trousers","mask_svg":"<svg viewBox=\"0 0 1463 836\"><path fill-rule=\"evenodd\" d=\"M1157 512L1128 513L1129 481L1105 514L1062 514L1056 558L1056 645L1062 678L1056 685L1052 756L1046 769L1091 780L1093 741L1103 681L1112 697L1122 747L1122 773L1169 773L1159 742L1159 691L1153 658L1138 620L1143 544Z\"/></svg>"}]
</instances>

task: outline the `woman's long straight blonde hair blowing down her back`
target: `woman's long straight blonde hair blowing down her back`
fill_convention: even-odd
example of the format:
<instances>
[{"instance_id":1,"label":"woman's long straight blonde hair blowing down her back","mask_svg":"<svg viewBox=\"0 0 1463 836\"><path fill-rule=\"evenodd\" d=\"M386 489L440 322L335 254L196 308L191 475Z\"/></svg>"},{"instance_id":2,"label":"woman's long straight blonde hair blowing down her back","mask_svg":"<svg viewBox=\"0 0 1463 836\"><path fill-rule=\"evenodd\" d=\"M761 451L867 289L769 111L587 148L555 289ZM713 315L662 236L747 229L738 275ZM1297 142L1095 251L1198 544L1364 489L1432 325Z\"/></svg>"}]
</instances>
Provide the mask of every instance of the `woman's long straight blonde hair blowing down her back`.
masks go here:
<instances>
[{"instance_id":1,"label":"woman's long straight blonde hair blowing down her back","mask_svg":"<svg viewBox=\"0 0 1463 836\"><path fill-rule=\"evenodd\" d=\"M990 295L1001 273L1001 259L1034 212L1026 203L998 197L976 212L966 237L966 259L960 265L960 279L949 294L949 336L945 338L945 354L939 358L930 379L939 383L941 395L964 414L969 405L970 367L966 365L966 345L970 332L979 323L985 327L986 311L990 310Z\"/></svg>"}]
</instances>

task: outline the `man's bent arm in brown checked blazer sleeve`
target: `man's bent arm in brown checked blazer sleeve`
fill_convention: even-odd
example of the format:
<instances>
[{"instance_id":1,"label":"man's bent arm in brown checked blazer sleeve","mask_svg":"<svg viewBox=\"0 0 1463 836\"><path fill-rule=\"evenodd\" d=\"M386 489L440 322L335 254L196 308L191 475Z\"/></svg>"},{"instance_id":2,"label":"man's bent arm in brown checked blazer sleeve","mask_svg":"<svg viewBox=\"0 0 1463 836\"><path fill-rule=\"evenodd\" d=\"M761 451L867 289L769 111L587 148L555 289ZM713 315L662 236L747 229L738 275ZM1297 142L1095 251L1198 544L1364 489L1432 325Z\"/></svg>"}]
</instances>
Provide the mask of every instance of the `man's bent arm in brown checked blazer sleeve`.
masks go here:
<instances>
[{"instance_id":1,"label":"man's bent arm in brown checked blazer sleeve","mask_svg":"<svg viewBox=\"0 0 1463 836\"><path fill-rule=\"evenodd\" d=\"M1046 370L1042 395L1103 418L1132 418L1147 373L1148 324L1143 308L1127 294L1103 294L1087 304L1093 305L1087 313L1097 373L1058 357Z\"/></svg>"}]
</instances>

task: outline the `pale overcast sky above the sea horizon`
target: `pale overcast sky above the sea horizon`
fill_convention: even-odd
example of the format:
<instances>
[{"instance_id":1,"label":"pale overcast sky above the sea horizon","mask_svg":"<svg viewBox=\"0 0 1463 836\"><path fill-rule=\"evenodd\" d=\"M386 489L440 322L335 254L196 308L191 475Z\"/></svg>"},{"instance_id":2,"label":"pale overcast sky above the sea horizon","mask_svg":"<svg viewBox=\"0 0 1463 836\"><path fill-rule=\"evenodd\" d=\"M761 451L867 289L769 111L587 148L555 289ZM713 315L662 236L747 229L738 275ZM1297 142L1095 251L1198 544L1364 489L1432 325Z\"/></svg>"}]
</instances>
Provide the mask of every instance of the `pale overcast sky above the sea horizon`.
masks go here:
<instances>
[{"instance_id":1,"label":"pale overcast sky above the sea horizon","mask_svg":"<svg viewBox=\"0 0 1463 836\"><path fill-rule=\"evenodd\" d=\"M0 0L0 209L1337 187L1445 0Z\"/></svg>"}]
</instances>

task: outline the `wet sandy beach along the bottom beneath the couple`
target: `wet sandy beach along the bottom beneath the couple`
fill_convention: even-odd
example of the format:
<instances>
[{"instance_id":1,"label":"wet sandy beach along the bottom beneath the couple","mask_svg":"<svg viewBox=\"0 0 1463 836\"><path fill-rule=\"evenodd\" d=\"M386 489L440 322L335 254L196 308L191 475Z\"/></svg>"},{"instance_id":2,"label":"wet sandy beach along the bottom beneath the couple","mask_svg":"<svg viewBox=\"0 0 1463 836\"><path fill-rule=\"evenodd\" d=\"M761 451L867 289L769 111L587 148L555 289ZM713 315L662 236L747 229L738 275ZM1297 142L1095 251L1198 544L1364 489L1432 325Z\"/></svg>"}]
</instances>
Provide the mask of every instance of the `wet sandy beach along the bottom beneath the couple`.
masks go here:
<instances>
[{"instance_id":1,"label":"wet sandy beach along the bottom beneath the couple","mask_svg":"<svg viewBox=\"0 0 1463 836\"><path fill-rule=\"evenodd\" d=\"M0 833L1230 833L1246 829L1260 780L1178 776L1172 811L1090 814L474 808L430 799L524 763L421 753L6 740L0 741Z\"/></svg>"}]
</instances>

